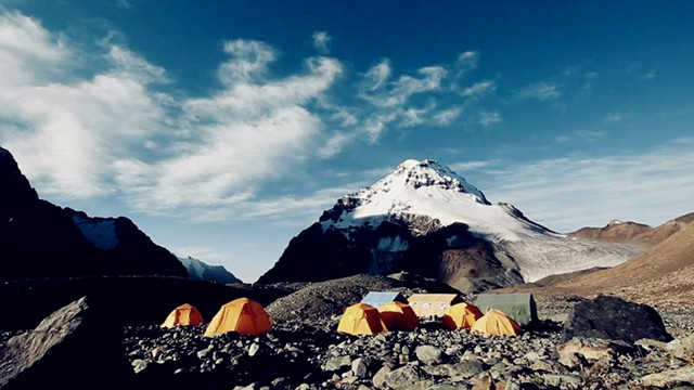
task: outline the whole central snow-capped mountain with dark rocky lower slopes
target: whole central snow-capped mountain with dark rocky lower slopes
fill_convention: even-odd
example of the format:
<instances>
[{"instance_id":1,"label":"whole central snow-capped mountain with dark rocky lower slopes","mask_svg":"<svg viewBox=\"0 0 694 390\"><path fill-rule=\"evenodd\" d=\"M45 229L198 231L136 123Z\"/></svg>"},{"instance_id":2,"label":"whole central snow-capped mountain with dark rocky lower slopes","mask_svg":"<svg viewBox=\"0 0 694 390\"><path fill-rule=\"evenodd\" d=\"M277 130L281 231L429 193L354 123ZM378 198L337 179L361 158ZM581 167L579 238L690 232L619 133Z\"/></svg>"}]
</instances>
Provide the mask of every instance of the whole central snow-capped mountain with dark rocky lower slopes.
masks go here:
<instances>
[{"instance_id":1,"label":"whole central snow-capped mountain with dark rocky lower slopes","mask_svg":"<svg viewBox=\"0 0 694 390\"><path fill-rule=\"evenodd\" d=\"M479 291L612 266L637 253L626 245L567 238L512 205L491 204L445 165L409 159L339 198L290 242L259 282L410 271Z\"/></svg>"}]
</instances>

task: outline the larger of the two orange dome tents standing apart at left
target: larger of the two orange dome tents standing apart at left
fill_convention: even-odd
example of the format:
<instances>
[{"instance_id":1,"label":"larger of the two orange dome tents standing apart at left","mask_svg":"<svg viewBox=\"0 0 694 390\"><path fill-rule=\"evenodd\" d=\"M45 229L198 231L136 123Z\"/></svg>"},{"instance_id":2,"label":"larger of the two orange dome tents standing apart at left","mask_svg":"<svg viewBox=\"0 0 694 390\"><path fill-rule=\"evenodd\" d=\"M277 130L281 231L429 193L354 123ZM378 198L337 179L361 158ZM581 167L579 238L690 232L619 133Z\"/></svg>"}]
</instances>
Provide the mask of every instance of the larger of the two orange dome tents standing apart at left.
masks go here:
<instances>
[{"instance_id":1,"label":"larger of the two orange dome tents standing apart at left","mask_svg":"<svg viewBox=\"0 0 694 390\"><path fill-rule=\"evenodd\" d=\"M207 325L205 336L235 332L240 335L260 335L272 330L270 317L262 307L248 298L223 304Z\"/></svg>"}]
</instances>

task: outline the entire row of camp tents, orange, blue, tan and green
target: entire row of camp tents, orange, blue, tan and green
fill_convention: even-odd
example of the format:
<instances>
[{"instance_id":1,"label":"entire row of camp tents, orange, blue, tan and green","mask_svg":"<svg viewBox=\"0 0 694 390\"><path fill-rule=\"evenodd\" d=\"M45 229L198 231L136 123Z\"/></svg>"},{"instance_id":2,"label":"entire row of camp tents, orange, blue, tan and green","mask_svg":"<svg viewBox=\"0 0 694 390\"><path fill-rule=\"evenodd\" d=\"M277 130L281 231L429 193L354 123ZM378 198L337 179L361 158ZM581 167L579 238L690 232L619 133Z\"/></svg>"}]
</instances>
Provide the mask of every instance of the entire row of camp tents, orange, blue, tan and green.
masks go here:
<instances>
[{"instance_id":1,"label":"entire row of camp tents, orange, blue, tan and green","mask_svg":"<svg viewBox=\"0 0 694 390\"><path fill-rule=\"evenodd\" d=\"M493 299L478 299L486 303L487 313L468 303L453 303L460 300L457 295L415 294L409 299L411 306L402 302L398 292L370 292L365 301L381 303L378 309L363 301L345 311L338 332L352 335L371 335L386 330L413 330L419 326L419 317L442 316L444 325L449 329L471 328L488 335L516 335L520 328L513 317L529 323L537 318L535 300L531 295L487 295ZM480 296L481 297L481 296ZM387 301L390 299L390 301ZM386 302L387 301L387 302ZM496 306L494 306L496 304ZM505 304L505 306L504 306ZM502 312L500 308L505 310ZM507 311L506 311L507 310ZM505 313L510 315L506 316ZM168 315L162 327L177 325L201 325L203 316L191 304L182 304ZM243 335L259 335L272 329L270 317L262 307L248 298L239 298L223 304L208 324L205 336L215 336L228 332Z\"/></svg>"}]
</instances>

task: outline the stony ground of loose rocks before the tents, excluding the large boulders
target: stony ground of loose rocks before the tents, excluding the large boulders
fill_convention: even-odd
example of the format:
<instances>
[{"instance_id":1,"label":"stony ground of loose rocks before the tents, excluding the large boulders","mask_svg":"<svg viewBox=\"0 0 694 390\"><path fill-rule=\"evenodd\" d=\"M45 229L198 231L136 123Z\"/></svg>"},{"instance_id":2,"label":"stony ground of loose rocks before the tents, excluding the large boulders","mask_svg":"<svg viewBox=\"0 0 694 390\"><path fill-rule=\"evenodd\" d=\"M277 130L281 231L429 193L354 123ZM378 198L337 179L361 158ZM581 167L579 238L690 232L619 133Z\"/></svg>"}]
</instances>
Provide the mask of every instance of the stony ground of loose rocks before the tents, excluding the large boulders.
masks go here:
<instances>
[{"instance_id":1,"label":"stony ground of loose rocks before the tents, excluding the large boulders","mask_svg":"<svg viewBox=\"0 0 694 390\"><path fill-rule=\"evenodd\" d=\"M540 317L566 317L579 300L541 300ZM435 322L413 333L357 337L337 334L338 317L332 315L319 325L311 318L275 320L273 332L258 337L205 338L204 327L127 327L124 343L143 380L166 376L209 388L694 388L694 318L661 314L679 339L563 342L562 324L550 320L519 337L450 332Z\"/></svg>"}]
</instances>

